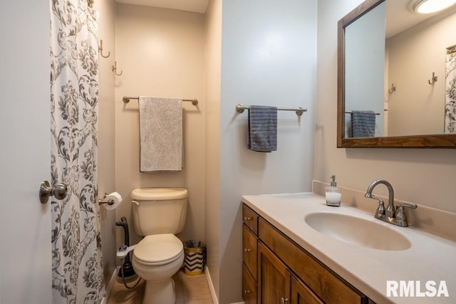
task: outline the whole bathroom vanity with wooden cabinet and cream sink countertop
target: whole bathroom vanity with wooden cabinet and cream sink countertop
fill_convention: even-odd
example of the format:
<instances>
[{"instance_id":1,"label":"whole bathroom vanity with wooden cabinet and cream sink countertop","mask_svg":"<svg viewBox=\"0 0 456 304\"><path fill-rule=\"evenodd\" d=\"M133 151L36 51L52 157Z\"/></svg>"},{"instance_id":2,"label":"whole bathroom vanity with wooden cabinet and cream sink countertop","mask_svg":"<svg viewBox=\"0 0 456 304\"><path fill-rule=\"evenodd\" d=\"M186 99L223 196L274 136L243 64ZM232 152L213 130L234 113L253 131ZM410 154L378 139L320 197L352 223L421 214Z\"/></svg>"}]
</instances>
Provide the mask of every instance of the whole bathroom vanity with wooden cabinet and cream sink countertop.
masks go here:
<instances>
[{"instance_id":1,"label":"whole bathroom vanity with wooden cabinet and cream sink countertop","mask_svg":"<svg viewBox=\"0 0 456 304\"><path fill-rule=\"evenodd\" d=\"M324 196L312 193L243 196L242 203L247 304L454 303L454 241L378 221L351 206L326 206ZM339 217L350 221L333 225ZM344 225L351 225L346 231L353 240L338 235L345 233ZM382 244L388 239L373 236L372 229L388 232L391 244ZM437 287L445 281L450 297L388 297L387 281L400 280L420 280L423 286L433 280Z\"/></svg>"}]
</instances>

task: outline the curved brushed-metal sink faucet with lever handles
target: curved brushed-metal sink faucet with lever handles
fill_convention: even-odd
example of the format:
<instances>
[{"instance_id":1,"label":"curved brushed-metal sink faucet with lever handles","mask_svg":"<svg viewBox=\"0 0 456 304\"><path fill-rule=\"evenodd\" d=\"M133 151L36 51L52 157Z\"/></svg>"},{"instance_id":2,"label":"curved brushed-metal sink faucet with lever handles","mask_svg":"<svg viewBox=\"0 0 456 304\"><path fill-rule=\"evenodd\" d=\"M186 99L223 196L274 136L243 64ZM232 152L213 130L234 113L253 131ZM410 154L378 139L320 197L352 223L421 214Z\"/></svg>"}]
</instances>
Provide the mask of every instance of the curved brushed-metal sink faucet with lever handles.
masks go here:
<instances>
[{"instance_id":1,"label":"curved brushed-metal sink faucet with lever handles","mask_svg":"<svg viewBox=\"0 0 456 304\"><path fill-rule=\"evenodd\" d=\"M382 199L378 199L375 197L372 192L373 189L378 185L378 184L384 184L388 188L388 206L386 207L385 210L385 205L383 204ZM407 217L405 216L404 212L404 207L410 208L410 209L416 209L417 205L416 204L402 204L398 206L398 209L395 209L394 206L394 190L393 186L385 179L375 179L369 187L368 190L366 191L365 195L368 199L377 199L378 200L378 208L375 211L375 219L380 219L381 221L385 221L390 224L394 224L397 226L401 227L407 227L408 226L408 221Z\"/></svg>"}]
</instances>

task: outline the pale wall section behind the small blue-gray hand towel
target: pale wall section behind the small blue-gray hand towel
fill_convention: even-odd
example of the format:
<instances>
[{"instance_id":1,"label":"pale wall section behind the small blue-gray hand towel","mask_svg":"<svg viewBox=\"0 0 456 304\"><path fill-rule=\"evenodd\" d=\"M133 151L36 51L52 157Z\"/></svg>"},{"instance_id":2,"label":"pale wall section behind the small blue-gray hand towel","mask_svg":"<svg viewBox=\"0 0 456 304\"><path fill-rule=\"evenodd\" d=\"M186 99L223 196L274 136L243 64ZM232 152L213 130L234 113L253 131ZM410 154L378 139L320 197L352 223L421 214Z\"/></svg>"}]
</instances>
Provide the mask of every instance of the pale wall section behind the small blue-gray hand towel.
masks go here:
<instances>
[{"instance_id":1,"label":"pale wall section behind the small blue-gray hand towel","mask_svg":"<svg viewBox=\"0 0 456 304\"><path fill-rule=\"evenodd\" d=\"M241 196L311 191L315 62L315 0L223 1L219 303L242 300ZM277 151L261 153L247 150L237 103L309 111L279 112Z\"/></svg>"}]
</instances>

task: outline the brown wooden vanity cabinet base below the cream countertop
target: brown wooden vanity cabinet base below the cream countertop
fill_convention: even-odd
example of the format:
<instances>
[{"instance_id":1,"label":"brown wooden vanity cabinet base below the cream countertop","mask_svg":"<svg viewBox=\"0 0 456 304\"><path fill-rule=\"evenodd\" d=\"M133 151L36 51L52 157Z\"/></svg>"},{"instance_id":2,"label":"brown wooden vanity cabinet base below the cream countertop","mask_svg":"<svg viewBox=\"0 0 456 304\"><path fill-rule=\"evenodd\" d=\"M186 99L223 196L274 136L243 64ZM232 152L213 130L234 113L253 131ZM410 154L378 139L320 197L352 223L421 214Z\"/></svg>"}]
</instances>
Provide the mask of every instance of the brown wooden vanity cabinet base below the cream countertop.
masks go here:
<instances>
[{"instance_id":1,"label":"brown wooden vanity cabinet base below the cream countertop","mask_svg":"<svg viewBox=\"0 0 456 304\"><path fill-rule=\"evenodd\" d=\"M254 212L243 205L243 214ZM245 218L244 218L245 219ZM256 214L257 234L243 226L243 298L248 304L365 304L366 295ZM256 267L246 253L257 241ZM252 260L252 261L251 261ZM254 268L254 269L252 269ZM256 290L252 290L253 286Z\"/></svg>"}]
</instances>

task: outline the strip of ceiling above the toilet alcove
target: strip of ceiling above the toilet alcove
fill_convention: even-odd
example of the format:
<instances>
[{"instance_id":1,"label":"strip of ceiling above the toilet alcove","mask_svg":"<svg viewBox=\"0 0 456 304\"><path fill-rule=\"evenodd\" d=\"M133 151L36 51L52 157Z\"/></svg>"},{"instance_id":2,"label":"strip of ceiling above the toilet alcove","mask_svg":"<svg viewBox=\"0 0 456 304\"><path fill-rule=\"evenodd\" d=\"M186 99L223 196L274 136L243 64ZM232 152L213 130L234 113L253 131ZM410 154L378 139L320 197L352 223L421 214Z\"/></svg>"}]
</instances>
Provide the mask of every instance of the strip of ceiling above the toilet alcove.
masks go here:
<instances>
[{"instance_id":1,"label":"strip of ceiling above the toilet alcove","mask_svg":"<svg viewBox=\"0 0 456 304\"><path fill-rule=\"evenodd\" d=\"M164 9L179 9L181 11L195 11L205 13L209 0L115 0L119 3L137 4L162 7Z\"/></svg>"}]
</instances>

